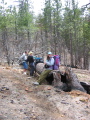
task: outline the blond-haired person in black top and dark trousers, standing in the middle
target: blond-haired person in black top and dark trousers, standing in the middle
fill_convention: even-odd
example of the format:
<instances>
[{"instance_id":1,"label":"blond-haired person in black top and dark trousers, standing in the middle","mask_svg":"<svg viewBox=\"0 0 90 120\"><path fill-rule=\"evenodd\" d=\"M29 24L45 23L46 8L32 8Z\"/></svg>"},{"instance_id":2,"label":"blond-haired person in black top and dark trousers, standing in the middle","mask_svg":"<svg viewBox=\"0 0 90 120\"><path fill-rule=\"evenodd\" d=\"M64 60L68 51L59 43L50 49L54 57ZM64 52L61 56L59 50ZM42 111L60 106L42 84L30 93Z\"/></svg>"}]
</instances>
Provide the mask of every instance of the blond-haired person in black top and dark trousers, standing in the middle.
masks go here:
<instances>
[{"instance_id":1,"label":"blond-haired person in black top and dark trousers, standing in the middle","mask_svg":"<svg viewBox=\"0 0 90 120\"><path fill-rule=\"evenodd\" d=\"M29 52L29 56L26 60L29 63L30 66L30 76L33 76L34 71L35 71L35 65L34 65L34 58L33 58L33 52Z\"/></svg>"}]
</instances>

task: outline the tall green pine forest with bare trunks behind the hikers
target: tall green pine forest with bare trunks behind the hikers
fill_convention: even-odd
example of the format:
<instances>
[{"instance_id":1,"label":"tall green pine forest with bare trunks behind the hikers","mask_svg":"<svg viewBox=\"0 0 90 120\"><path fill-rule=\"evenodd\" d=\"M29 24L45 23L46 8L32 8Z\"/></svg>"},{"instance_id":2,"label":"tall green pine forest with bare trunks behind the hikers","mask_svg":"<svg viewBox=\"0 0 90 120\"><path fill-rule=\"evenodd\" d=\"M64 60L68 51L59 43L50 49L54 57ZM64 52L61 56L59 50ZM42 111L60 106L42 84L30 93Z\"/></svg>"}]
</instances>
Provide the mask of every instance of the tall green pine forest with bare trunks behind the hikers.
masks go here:
<instances>
[{"instance_id":1,"label":"tall green pine forest with bare trunks behind the hikers","mask_svg":"<svg viewBox=\"0 0 90 120\"><path fill-rule=\"evenodd\" d=\"M61 64L90 69L90 3L78 7L76 0L45 0L36 16L31 0L17 0L18 6L0 4L0 64L16 63L20 55L32 50L45 57L59 54Z\"/></svg>"}]
</instances>

